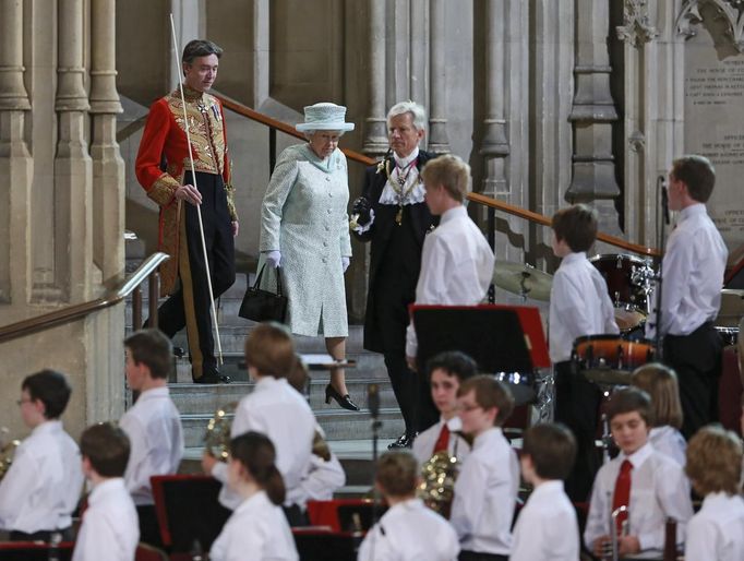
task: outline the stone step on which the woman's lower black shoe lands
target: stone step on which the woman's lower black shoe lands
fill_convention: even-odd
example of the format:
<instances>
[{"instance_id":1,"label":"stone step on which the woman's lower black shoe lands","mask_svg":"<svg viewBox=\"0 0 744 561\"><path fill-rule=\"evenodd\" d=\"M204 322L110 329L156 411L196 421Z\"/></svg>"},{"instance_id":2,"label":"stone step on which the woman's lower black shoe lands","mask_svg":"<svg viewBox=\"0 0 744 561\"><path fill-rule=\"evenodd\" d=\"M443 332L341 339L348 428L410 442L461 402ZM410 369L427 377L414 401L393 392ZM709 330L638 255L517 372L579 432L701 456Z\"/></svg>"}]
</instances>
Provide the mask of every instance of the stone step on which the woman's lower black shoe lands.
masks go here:
<instances>
[{"instance_id":1,"label":"stone step on which the woman's lower black shoe lands","mask_svg":"<svg viewBox=\"0 0 744 561\"><path fill-rule=\"evenodd\" d=\"M207 414L182 414L183 439L187 447L202 446L206 427L213 413ZM232 415L227 415L232 420ZM326 440L353 440L368 439L372 433L371 418L365 411L347 411L346 409L324 409L315 411L317 422L325 431ZM381 439L393 440L404 431L404 422L400 411L387 407L380 409L382 425L379 433Z\"/></svg>"}]
</instances>

